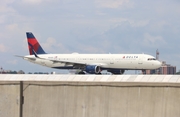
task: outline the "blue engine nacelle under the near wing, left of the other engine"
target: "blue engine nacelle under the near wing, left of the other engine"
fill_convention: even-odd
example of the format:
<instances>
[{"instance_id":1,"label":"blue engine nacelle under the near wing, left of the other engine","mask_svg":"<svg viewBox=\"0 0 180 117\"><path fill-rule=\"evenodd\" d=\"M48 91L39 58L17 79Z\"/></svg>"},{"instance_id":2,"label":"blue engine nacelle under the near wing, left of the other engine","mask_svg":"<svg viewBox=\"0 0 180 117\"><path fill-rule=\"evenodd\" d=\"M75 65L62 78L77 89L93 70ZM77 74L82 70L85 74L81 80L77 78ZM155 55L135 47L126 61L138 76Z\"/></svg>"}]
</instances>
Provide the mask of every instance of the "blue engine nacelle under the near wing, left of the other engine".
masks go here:
<instances>
[{"instance_id":1,"label":"blue engine nacelle under the near wing, left of the other engine","mask_svg":"<svg viewBox=\"0 0 180 117\"><path fill-rule=\"evenodd\" d=\"M86 66L85 71L89 74L98 74L101 72L101 69L97 65L88 65Z\"/></svg>"}]
</instances>

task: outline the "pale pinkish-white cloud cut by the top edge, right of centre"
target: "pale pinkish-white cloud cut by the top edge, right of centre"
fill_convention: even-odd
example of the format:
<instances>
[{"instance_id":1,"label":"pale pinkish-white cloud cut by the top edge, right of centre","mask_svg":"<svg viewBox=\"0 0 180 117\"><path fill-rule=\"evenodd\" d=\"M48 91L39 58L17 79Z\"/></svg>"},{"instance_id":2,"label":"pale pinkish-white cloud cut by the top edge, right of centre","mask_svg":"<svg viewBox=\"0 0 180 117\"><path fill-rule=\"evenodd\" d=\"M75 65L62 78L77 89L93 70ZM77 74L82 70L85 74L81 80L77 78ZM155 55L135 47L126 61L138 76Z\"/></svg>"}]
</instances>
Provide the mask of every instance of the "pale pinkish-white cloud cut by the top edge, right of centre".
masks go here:
<instances>
[{"instance_id":1,"label":"pale pinkish-white cloud cut by the top edge, right of centre","mask_svg":"<svg viewBox=\"0 0 180 117\"><path fill-rule=\"evenodd\" d=\"M118 8L118 7L128 3L129 0L96 0L95 2L98 7Z\"/></svg>"}]
</instances>

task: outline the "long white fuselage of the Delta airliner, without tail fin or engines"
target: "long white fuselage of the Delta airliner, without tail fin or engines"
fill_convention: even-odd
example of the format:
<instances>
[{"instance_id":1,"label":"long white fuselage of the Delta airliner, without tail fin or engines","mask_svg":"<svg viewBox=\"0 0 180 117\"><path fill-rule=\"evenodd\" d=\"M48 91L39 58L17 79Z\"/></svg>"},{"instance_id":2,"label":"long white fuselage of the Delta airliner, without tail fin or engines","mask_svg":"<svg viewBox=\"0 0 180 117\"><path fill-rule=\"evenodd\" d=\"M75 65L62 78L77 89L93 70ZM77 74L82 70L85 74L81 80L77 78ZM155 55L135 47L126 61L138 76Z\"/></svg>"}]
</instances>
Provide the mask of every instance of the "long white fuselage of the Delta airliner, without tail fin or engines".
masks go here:
<instances>
[{"instance_id":1,"label":"long white fuselage of the Delta airliner, without tail fin or engines","mask_svg":"<svg viewBox=\"0 0 180 117\"><path fill-rule=\"evenodd\" d=\"M38 56L43 59L34 55L25 56L24 59L59 69L75 69L73 66L76 64L97 65L102 69L125 70L157 69L161 66L161 62L147 54L39 54Z\"/></svg>"}]
</instances>

